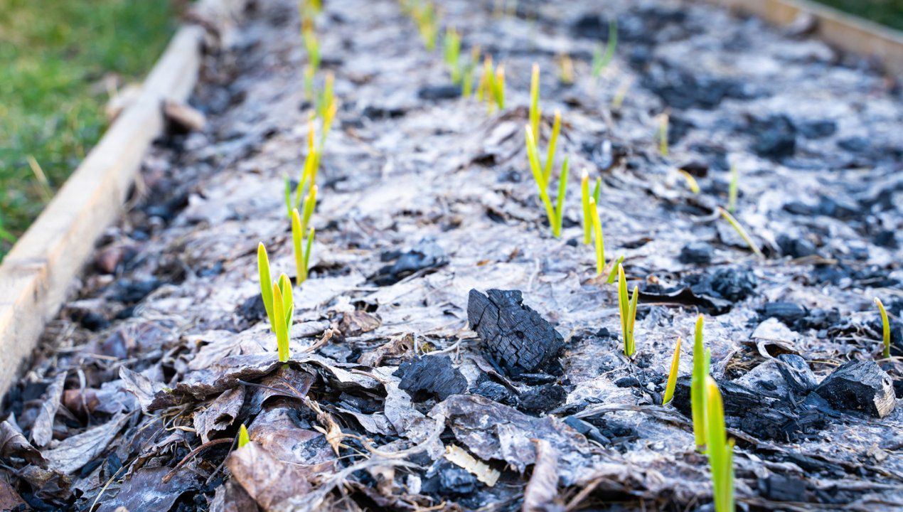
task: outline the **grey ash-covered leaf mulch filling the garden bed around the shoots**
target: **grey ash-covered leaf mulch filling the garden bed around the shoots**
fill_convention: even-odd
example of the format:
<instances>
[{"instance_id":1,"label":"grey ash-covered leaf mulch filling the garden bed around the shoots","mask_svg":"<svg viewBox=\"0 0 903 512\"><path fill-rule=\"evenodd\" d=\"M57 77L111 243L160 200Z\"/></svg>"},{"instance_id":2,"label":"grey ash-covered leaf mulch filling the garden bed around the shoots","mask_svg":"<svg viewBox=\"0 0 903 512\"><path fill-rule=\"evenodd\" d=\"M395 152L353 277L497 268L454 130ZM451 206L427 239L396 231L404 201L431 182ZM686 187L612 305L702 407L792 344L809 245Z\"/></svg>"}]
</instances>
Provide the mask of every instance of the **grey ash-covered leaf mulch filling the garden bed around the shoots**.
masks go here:
<instances>
[{"instance_id":1,"label":"grey ash-covered leaf mulch filling the garden bed around the shoots","mask_svg":"<svg viewBox=\"0 0 903 512\"><path fill-rule=\"evenodd\" d=\"M256 245L293 274L281 194L310 106L295 3L260 0L206 60L193 103L208 125L146 157L143 199L5 396L0 508L703 507L687 377L660 405L699 312L742 507L903 507L894 81L695 2L521 0L502 16L489 0L443 2L465 52L505 64L507 108L488 115L473 99L424 99L448 75L396 2L325 4L341 107L291 363L276 362ZM620 45L596 81L589 60L613 17ZM563 53L573 85L556 78ZM560 239L526 167L533 62L544 131L561 108L558 154L574 170ZM731 161L737 216L765 260L715 214ZM615 289L582 245L583 169L603 182L606 254L641 290L633 360ZM879 363L876 295L895 343ZM252 443L235 451L240 424Z\"/></svg>"}]
</instances>

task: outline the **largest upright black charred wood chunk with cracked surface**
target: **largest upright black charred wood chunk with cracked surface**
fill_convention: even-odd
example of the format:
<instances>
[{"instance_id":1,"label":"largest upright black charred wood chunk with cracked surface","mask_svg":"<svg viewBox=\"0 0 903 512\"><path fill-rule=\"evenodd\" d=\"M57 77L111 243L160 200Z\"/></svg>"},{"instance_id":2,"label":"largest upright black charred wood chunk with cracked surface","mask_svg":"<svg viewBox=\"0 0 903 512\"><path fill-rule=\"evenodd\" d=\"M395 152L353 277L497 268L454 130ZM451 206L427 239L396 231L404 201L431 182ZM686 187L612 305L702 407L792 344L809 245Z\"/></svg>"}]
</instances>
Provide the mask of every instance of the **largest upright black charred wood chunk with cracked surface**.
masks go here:
<instances>
[{"instance_id":1,"label":"largest upright black charred wood chunk with cracked surface","mask_svg":"<svg viewBox=\"0 0 903 512\"><path fill-rule=\"evenodd\" d=\"M519 290L489 290L485 295L470 290L467 318L489 356L509 375L557 366L562 335L523 303Z\"/></svg>"}]
</instances>

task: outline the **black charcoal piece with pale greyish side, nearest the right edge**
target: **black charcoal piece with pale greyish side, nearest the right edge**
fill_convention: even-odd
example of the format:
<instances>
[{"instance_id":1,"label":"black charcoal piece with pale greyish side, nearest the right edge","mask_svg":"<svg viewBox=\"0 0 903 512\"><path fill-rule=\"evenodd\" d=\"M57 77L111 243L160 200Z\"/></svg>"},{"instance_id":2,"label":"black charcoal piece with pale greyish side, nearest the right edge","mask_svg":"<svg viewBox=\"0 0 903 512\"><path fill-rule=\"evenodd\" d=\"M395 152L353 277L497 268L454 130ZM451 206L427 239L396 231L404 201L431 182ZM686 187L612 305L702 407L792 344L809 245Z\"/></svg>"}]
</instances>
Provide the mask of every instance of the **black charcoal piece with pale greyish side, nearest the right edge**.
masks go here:
<instances>
[{"instance_id":1,"label":"black charcoal piece with pale greyish side, nearest the right edge","mask_svg":"<svg viewBox=\"0 0 903 512\"><path fill-rule=\"evenodd\" d=\"M883 418L894 410L893 382L875 361L850 361L835 369L815 388L834 408Z\"/></svg>"}]
</instances>

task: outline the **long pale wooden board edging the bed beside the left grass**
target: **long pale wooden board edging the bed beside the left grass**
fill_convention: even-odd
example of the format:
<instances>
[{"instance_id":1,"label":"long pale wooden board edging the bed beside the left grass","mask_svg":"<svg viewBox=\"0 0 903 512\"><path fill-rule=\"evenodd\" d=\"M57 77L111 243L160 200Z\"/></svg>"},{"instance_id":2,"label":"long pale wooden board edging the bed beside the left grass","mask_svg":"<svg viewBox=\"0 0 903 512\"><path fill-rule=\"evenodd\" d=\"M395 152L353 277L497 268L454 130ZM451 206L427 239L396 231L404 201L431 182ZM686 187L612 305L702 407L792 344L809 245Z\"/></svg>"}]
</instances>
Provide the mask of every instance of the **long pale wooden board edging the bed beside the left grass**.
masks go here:
<instances>
[{"instance_id":1,"label":"long pale wooden board edging the bed beside the left grass","mask_svg":"<svg viewBox=\"0 0 903 512\"><path fill-rule=\"evenodd\" d=\"M163 99L184 101L200 70L199 25L183 26L154 66L139 98L116 118L0 265L0 396L59 311L104 229L163 131Z\"/></svg>"}]
</instances>

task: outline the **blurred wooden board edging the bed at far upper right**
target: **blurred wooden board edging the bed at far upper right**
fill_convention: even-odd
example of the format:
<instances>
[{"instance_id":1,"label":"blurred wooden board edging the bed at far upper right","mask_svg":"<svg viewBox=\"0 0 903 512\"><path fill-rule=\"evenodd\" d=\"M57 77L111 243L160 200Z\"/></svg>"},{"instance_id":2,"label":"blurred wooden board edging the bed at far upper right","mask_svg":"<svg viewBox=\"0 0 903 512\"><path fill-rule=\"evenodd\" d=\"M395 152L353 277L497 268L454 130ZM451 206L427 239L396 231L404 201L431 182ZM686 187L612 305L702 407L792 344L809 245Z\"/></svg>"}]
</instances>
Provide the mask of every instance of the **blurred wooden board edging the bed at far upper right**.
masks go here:
<instances>
[{"instance_id":1,"label":"blurred wooden board edging the bed at far upper right","mask_svg":"<svg viewBox=\"0 0 903 512\"><path fill-rule=\"evenodd\" d=\"M800 14L815 17L815 36L843 51L880 61L896 78L903 76L903 33L809 0L708 0L734 11L755 14L770 23L793 23Z\"/></svg>"}]
</instances>

